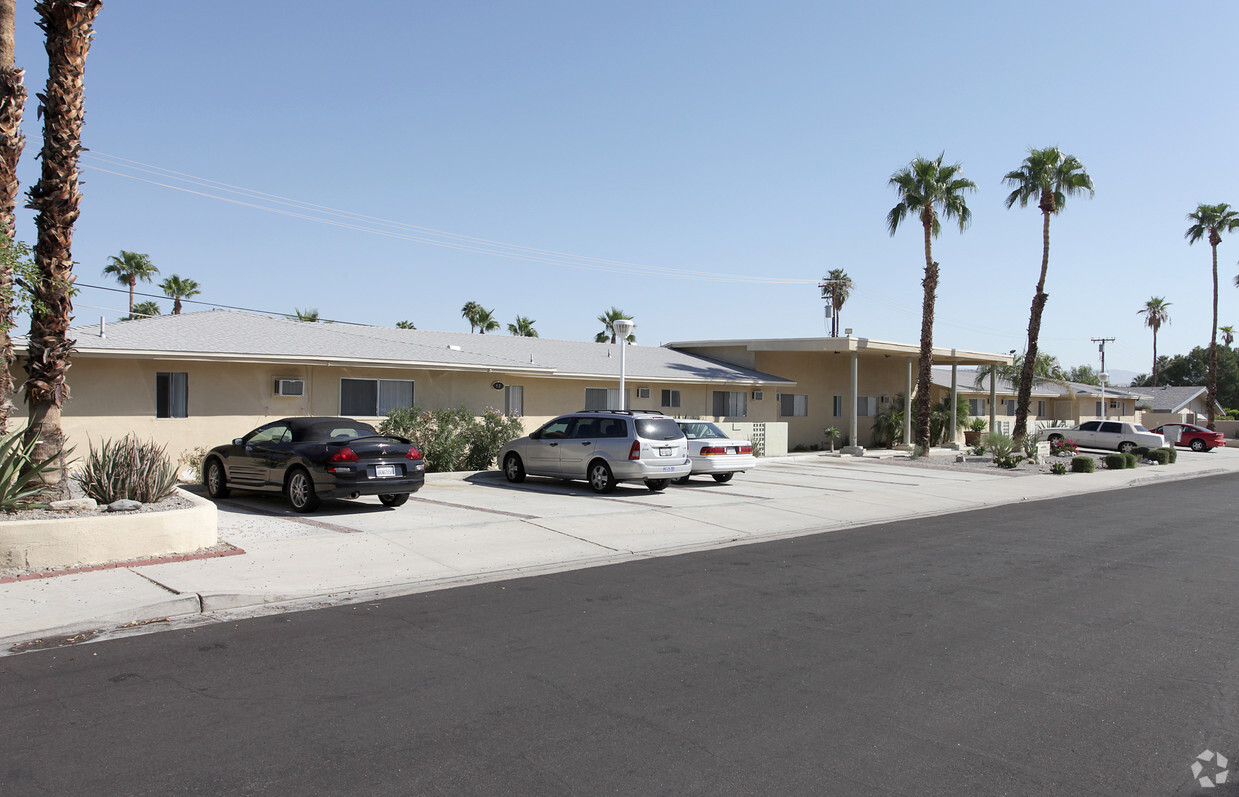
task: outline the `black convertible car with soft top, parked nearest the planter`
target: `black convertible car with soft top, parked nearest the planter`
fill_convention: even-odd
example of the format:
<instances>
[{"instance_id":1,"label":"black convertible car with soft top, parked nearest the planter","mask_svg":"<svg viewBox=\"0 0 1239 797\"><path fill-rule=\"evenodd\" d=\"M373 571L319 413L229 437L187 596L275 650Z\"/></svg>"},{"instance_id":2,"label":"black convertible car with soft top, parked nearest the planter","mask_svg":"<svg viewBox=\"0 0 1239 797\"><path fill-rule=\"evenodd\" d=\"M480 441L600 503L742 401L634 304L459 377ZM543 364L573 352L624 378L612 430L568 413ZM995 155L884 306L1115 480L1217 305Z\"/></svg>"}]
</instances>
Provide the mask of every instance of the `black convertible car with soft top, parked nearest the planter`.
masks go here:
<instances>
[{"instance_id":1,"label":"black convertible car with soft top, parked nearest the planter","mask_svg":"<svg viewBox=\"0 0 1239 797\"><path fill-rule=\"evenodd\" d=\"M425 478L411 440L382 435L351 418L276 420L211 449L202 462L212 498L227 498L234 487L282 492L297 512L313 512L321 498L358 496L398 507Z\"/></svg>"}]
</instances>

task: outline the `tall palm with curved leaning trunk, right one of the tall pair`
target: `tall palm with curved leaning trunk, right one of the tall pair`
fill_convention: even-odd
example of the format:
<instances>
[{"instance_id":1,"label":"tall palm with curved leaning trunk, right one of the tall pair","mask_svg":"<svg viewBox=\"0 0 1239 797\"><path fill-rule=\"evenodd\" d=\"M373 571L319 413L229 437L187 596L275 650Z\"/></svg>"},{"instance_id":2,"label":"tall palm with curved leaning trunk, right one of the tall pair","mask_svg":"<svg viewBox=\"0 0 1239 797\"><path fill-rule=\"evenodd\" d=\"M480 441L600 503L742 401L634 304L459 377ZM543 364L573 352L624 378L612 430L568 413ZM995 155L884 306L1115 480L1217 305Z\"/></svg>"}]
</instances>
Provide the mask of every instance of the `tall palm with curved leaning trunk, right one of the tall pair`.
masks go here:
<instances>
[{"instance_id":1,"label":"tall palm with curved leaning trunk, right one of the tall pair","mask_svg":"<svg viewBox=\"0 0 1239 797\"><path fill-rule=\"evenodd\" d=\"M1032 295L1032 310L1028 314L1028 345L1025 347L1023 374L1020 379L1020 393L1015 405L1015 430L1011 435L1016 444L1023 440L1028 425L1028 405L1032 403L1032 369L1037 361L1037 338L1041 336L1041 316L1046 310L1046 271L1049 268L1049 217L1059 213L1067 205L1067 197L1088 192L1093 195L1093 178L1084 171L1084 165L1074 155L1063 155L1057 146L1043 150L1028 150L1028 156L1015 171L1009 171L1002 181L1012 187L1007 195L1006 206L1010 209L1016 202L1027 207L1033 198L1041 209L1041 276L1037 278L1037 290Z\"/></svg>"}]
</instances>

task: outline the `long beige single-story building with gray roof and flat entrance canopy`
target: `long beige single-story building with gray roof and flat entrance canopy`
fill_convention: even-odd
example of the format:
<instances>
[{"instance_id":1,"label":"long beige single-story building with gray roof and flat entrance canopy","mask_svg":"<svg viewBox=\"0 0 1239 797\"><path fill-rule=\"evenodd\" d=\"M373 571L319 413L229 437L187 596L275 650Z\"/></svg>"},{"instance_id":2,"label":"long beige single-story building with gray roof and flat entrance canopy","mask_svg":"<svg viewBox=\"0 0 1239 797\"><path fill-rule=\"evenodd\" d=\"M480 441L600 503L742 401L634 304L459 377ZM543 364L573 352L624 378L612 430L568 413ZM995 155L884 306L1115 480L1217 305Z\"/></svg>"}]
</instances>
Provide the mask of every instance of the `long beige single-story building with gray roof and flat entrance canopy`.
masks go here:
<instances>
[{"instance_id":1,"label":"long beige single-story building with gray roof and flat entrance canopy","mask_svg":"<svg viewBox=\"0 0 1239 797\"><path fill-rule=\"evenodd\" d=\"M532 430L565 412L618 408L621 352L629 408L714 419L755 443L763 435L767 454L821 445L826 426L864 446L866 419L891 395L912 392L919 357L917 345L851 336L621 348L237 310L100 322L73 327L69 337L76 346L62 424L71 444L84 451L135 434L166 445L173 457L279 418L378 423L413 405L476 414L493 408L522 416ZM15 345L20 384L25 343ZM958 368L1010 357L935 348L934 361ZM20 418L25 408L16 403Z\"/></svg>"}]
</instances>

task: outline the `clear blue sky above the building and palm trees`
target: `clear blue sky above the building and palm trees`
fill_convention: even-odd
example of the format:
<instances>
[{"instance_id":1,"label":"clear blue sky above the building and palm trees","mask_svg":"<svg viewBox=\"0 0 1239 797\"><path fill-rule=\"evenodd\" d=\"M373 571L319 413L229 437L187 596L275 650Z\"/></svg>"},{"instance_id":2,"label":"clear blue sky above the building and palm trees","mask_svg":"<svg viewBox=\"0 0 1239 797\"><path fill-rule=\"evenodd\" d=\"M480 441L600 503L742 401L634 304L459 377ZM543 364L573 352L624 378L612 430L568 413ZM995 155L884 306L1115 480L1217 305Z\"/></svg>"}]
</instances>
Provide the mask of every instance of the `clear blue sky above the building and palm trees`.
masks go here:
<instances>
[{"instance_id":1,"label":"clear blue sky above the building and palm trees","mask_svg":"<svg viewBox=\"0 0 1239 797\"><path fill-rule=\"evenodd\" d=\"M25 192L46 56L20 5ZM1097 196L1052 223L1042 350L1095 367L1089 338L1115 337L1108 367L1146 372L1150 296L1172 302L1161 353L1208 343L1209 250L1187 245L1184 216L1239 203L1237 22L1233 1L109 0L87 62L77 274L110 285L100 270L129 249L222 305L467 331L472 300L574 340L617 305L658 345L823 335L810 283L844 268L857 289L843 325L914 342L921 232L887 234L887 180L945 151L980 191L969 231L934 244L934 342L1006 352L1023 348L1041 218L1004 208L1001 177L1058 145ZM28 211L19 224L32 240ZM569 268L473 239L805 283ZM1239 236L1219 253L1219 322L1239 326ZM83 324L124 309L120 294L77 299Z\"/></svg>"}]
</instances>

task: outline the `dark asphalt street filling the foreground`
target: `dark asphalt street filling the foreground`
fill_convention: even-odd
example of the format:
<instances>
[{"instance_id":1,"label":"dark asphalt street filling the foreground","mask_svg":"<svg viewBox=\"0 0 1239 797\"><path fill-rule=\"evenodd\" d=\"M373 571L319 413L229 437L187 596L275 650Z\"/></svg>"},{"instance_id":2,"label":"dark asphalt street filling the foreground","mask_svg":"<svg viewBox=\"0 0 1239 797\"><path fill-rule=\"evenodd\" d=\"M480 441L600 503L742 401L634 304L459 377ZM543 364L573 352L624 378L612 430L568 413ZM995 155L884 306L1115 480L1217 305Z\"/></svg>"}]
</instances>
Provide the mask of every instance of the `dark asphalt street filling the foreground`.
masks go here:
<instances>
[{"instance_id":1,"label":"dark asphalt street filling the foreground","mask_svg":"<svg viewBox=\"0 0 1239 797\"><path fill-rule=\"evenodd\" d=\"M7 657L0 793L1237 795L1237 487Z\"/></svg>"}]
</instances>

